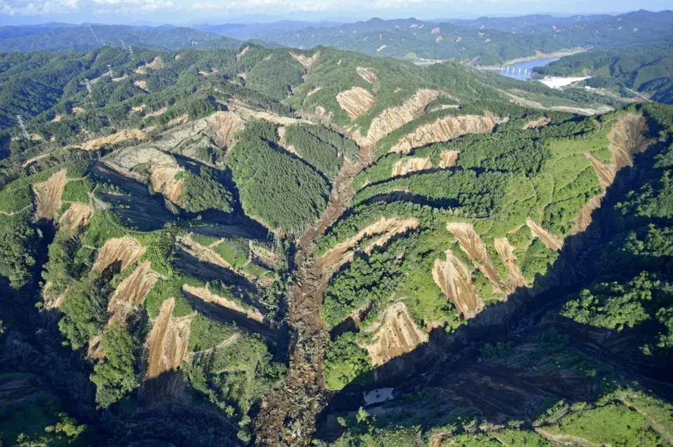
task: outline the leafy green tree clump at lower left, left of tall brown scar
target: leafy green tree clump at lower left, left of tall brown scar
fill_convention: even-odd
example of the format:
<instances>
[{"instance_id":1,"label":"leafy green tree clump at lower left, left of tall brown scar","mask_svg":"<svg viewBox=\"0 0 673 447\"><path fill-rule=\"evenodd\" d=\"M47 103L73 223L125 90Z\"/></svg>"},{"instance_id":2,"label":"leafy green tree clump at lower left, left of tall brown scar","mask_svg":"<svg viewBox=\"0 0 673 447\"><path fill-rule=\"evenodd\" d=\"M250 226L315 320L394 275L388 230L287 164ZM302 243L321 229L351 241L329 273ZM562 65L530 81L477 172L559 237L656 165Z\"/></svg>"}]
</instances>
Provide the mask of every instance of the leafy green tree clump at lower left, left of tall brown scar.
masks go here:
<instances>
[{"instance_id":1,"label":"leafy green tree clump at lower left, left of tall brown scar","mask_svg":"<svg viewBox=\"0 0 673 447\"><path fill-rule=\"evenodd\" d=\"M119 323L109 324L100 336L105 356L94 366L91 381L96 384L96 402L102 408L140 386L135 375L137 346Z\"/></svg>"}]
</instances>

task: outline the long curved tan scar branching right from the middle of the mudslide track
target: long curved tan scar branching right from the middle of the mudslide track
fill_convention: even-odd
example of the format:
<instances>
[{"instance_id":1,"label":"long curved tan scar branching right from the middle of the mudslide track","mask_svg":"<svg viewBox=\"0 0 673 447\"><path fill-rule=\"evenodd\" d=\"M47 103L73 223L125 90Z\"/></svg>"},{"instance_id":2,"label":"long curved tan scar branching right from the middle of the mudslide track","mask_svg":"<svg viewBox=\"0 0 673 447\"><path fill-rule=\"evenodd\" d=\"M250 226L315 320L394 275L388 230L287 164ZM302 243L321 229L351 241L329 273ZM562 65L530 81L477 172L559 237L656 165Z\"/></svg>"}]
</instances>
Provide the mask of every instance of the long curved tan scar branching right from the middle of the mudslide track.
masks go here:
<instances>
[{"instance_id":1,"label":"long curved tan scar branching right from the middle of the mudslide track","mask_svg":"<svg viewBox=\"0 0 673 447\"><path fill-rule=\"evenodd\" d=\"M370 224L367 228L360 230L360 232L353 236L353 238L341 242L341 244L335 245L332 249L329 249L327 253L322 255L318 262L320 263L320 266L325 268L325 270L338 270L341 266L353 260L354 252L351 249L358 245L358 242L362 239L372 235L381 234L383 235L383 238L385 238L382 242L385 243L394 235L405 233L405 231L412 228L418 228L418 226L418 219L414 219L413 217L381 217L381 219ZM379 241L376 241L375 244L379 245L378 242Z\"/></svg>"}]
</instances>

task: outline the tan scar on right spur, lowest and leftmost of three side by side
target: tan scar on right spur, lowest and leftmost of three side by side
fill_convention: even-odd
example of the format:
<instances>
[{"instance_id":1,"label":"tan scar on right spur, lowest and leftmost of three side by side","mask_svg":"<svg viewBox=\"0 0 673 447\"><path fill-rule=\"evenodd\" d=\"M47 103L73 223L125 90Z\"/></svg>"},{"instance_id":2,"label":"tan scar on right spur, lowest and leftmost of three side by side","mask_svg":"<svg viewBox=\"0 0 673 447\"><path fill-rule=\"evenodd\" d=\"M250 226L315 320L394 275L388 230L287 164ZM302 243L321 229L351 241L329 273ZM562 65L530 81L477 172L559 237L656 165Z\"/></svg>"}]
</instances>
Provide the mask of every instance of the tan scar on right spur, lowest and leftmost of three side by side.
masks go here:
<instances>
[{"instance_id":1,"label":"tan scar on right spur, lowest and leftmost of three side by side","mask_svg":"<svg viewBox=\"0 0 673 447\"><path fill-rule=\"evenodd\" d=\"M484 308L482 298L472 283L468 266L447 250L447 260L435 260L433 279L463 318L472 318Z\"/></svg>"}]
</instances>

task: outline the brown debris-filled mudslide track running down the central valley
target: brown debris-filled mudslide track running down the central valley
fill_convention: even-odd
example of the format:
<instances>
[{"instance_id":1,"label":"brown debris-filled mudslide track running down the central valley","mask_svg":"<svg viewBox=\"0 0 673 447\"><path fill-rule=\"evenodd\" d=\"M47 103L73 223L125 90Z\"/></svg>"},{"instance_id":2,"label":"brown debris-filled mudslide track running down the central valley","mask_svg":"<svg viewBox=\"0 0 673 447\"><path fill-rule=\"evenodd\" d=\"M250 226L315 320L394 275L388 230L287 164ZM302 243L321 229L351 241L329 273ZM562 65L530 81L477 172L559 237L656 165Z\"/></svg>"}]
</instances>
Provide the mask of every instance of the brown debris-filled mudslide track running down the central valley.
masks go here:
<instances>
[{"instance_id":1,"label":"brown debris-filled mudslide track running down the central valley","mask_svg":"<svg viewBox=\"0 0 673 447\"><path fill-rule=\"evenodd\" d=\"M331 393L322 381L322 361L329 331L320 317L320 304L329 274L315 257L315 244L348 209L355 194L351 187L353 178L363 167L373 163L374 157L374 153L363 147L356 161L344 162L325 213L297 240L294 257L297 277L287 303L292 331L290 366L285 385L261 401L255 423L257 446L308 446L315 431L315 418L327 405Z\"/></svg>"}]
</instances>

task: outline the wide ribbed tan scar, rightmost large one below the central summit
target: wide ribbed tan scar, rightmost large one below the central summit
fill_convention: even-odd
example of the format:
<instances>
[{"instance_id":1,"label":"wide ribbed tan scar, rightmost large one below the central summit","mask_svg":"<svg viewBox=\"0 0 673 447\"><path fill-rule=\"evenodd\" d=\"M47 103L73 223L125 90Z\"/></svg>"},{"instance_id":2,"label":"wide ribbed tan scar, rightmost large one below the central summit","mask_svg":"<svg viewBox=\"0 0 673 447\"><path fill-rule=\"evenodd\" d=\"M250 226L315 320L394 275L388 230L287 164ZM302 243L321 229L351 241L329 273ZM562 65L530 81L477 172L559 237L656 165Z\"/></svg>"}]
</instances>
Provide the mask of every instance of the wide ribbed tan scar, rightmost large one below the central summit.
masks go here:
<instances>
[{"instance_id":1,"label":"wide ribbed tan scar, rightmost large one below the central summit","mask_svg":"<svg viewBox=\"0 0 673 447\"><path fill-rule=\"evenodd\" d=\"M493 114L484 116L445 116L434 123L421 125L414 132L410 132L400 139L390 152L409 153L415 147L425 146L430 143L447 142L461 135L474 133L488 133L493 131L496 124L502 123L501 118Z\"/></svg>"}]
</instances>

